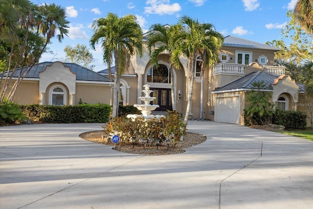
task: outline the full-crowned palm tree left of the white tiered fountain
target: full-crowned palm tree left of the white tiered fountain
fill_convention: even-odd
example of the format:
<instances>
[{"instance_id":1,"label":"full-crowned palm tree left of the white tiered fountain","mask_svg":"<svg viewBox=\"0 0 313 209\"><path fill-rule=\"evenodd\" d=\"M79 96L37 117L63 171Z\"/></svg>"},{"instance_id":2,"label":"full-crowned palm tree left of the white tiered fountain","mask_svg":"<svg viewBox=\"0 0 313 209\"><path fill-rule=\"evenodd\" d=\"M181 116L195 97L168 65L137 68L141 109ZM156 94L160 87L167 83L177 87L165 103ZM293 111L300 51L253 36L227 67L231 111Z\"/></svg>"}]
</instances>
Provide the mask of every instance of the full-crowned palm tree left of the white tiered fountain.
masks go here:
<instances>
[{"instance_id":1,"label":"full-crowned palm tree left of the white tiered fountain","mask_svg":"<svg viewBox=\"0 0 313 209\"><path fill-rule=\"evenodd\" d=\"M134 15L118 18L113 13L108 13L106 18L95 20L92 23L92 29L94 33L90 39L90 45L95 49L95 44L100 41L103 61L108 64L110 77L114 58L112 117L116 117L118 115L120 75L128 68L131 56L134 56L135 53L142 56L142 30L136 23Z\"/></svg>"}]
</instances>

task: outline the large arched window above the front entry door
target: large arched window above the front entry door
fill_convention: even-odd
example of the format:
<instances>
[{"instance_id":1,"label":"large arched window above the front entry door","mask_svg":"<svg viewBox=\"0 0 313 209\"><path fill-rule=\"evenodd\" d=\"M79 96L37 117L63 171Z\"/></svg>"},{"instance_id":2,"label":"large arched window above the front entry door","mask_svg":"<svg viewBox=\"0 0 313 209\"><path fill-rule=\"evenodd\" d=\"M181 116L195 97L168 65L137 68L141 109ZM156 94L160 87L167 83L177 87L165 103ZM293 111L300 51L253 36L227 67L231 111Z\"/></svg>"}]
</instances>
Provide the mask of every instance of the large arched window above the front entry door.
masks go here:
<instances>
[{"instance_id":1,"label":"large arched window above the front entry door","mask_svg":"<svg viewBox=\"0 0 313 209\"><path fill-rule=\"evenodd\" d=\"M147 82L171 83L170 70L166 65L159 64L158 68L152 67L147 73Z\"/></svg>"}]
</instances>

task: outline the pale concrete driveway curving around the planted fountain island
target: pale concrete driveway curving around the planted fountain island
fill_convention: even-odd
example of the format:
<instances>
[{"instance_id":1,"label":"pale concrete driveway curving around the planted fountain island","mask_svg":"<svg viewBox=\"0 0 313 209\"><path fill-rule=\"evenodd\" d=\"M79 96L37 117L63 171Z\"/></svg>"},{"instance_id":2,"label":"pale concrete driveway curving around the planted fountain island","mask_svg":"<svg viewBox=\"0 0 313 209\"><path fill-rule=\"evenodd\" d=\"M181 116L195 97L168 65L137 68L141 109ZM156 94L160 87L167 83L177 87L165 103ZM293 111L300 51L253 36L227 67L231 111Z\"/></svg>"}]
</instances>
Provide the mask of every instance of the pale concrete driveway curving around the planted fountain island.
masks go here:
<instances>
[{"instance_id":1,"label":"pale concrete driveway curving around the planted fountain island","mask_svg":"<svg viewBox=\"0 0 313 209\"><path fill-rule=\"evenodd\" d=\"M78 137L101 125L0 127L0 209L313 208L313 141L189 121L204 143L143 156Z\"/></svg>"}]
</instances>

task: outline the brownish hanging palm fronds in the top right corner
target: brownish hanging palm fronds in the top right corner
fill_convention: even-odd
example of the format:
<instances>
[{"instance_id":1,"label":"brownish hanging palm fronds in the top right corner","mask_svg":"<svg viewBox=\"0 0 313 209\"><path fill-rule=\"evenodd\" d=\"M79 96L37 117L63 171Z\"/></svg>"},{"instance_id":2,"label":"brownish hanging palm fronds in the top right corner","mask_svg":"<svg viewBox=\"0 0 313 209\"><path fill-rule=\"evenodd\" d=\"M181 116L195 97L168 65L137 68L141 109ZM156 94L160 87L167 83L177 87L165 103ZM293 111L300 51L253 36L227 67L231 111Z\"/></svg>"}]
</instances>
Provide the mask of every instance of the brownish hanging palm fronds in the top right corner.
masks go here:
<instances>
[{"instance_id":1,"label":"brownish hanging palm fronds in the top right corner","mask_svg":"<svg viewBox=\"0 0 313 209\"><path fill-rule=\"evenodd\" d=\"M313 0L298 0L293 13L296 22L306 32L313 34Z\"/></svg>"}]
</instances>

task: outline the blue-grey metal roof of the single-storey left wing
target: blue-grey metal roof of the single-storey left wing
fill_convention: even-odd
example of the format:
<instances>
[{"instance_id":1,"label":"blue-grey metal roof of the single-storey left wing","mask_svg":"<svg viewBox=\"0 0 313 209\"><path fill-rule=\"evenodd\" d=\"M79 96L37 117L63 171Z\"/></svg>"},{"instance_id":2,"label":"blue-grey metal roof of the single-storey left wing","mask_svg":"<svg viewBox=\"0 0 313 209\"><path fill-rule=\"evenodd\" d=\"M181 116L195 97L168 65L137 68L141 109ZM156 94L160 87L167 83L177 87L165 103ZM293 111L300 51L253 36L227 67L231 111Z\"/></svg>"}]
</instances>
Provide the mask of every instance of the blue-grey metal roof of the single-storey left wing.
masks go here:
<instances>
[{"instance_id":1,"label":"blue-grey metal roof of the single-storey left wing","mask_svg":"<svg viewBox=\"0 0 313 209\"><path fill-rule=\"evenodd\" d=\"M45 70L46 66L51 66L53 62L43 62L38 63L32 67L29 73L25 78L38 78L39 72ZM76 74L76 80L80 81L103 81L110 82L110 79L107 76L104 76L98 72L85 68L83 66L74 64L74 63L63 63L65 67L69 67L70 71ZM24 69L27 67L24 67ZM19 77L21 68L14 73L14 77ZM6 76L6 73L3 73L3 76Z\"/></svg>"}]
</instances>

